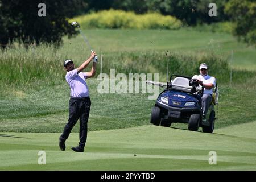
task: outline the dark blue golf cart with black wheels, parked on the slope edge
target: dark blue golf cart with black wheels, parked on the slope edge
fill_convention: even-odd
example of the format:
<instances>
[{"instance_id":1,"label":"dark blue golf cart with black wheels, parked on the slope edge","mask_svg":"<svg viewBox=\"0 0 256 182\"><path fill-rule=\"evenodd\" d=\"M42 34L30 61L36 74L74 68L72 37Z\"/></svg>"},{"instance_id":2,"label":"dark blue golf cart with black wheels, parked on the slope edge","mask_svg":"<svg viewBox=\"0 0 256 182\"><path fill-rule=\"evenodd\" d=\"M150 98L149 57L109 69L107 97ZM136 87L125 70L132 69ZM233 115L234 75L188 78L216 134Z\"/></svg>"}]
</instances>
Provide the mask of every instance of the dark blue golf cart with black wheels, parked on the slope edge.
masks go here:
<instances>
[{"instance_id":1,"label":"dark blue golf cart with black wheels, parked on the slope edge","mask_svg":"<svg viewBox=\"0 0 256 182\"><path fill-rule=\"evenodd\" d=\"M188 130L212 133L214 130L214 105L218 104L217 84L213 89L213 101L206 114L206 121L202 121L201 96L204 87L191 77L172 75L167 84L147 81L147 83L166 86L155 101L150 122L154 125L170 127L171 123L188 123Z\"/></svg>"}]
</instances>

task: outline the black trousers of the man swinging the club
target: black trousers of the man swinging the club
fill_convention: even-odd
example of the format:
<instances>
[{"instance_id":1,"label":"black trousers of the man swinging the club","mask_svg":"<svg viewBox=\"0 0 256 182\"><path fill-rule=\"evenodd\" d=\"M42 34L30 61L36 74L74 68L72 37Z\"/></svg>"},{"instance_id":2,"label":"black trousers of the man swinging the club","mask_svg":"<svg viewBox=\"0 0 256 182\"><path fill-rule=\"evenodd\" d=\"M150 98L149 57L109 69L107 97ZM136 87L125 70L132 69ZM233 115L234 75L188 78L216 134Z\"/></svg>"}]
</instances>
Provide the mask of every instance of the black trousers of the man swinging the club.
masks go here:
<instances>
[{"instance_id":1,"label":"black trousers of the man swinging the club","mask_svg":"<svg viewBox=\"0 0 256 182\"><path fill-rule=\"evenodd\" d=\"M87 139L87 123L90 113L90 97L71 97L69 100L69 118L68 123L64 127L61 139L65 141L71 130L80 119L79 146L84 148Z\"/></svg>"}]
</instances>

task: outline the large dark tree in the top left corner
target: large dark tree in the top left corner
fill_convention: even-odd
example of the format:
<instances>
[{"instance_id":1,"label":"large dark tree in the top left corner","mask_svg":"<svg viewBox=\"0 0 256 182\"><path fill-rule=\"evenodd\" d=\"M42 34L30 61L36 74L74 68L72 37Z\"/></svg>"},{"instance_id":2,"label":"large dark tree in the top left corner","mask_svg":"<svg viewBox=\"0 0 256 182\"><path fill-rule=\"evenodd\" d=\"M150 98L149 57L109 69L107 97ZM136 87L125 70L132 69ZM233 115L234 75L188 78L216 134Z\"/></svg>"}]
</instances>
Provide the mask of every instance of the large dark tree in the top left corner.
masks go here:
<instances>
[{"instance_id":1,"label":"large dark tree in the top left corner","mask_svg":"<svg viewBox=\"0 0 256 182\"><path fill-rule=\"evenodd\" d=\"M46 5L45 17L38 15L39 3ZM67 18L84 6L82 0L0 0L0 44L19 41L59 45L63 36L77 34Z\"/></svg>"}]
</instances>

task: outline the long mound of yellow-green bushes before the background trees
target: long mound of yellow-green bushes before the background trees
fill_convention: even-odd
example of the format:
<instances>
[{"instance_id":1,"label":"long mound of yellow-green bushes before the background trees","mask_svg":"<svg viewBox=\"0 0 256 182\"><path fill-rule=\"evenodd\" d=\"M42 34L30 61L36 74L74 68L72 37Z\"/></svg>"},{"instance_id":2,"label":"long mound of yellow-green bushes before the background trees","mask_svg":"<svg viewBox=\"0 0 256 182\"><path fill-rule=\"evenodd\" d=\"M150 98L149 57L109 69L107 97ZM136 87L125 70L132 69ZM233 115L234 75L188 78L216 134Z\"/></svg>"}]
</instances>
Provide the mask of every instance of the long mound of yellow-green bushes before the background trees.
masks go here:
<instances>
[{"instance_id":1,"label":"long mound of yellow-green bushes before the background trees","mask_svg":"<svg viewBox=\"0 0 256 182\"><path fill-rule=\"evenodd\" d=\"M159 13L137 15L122 10L103 10L86 14L70 20L77 21L82 28L134 28L134 29L170 29L176 30L182 26L180 20Z\"/></svg>"}]
</instances>

